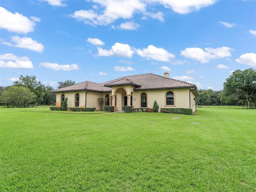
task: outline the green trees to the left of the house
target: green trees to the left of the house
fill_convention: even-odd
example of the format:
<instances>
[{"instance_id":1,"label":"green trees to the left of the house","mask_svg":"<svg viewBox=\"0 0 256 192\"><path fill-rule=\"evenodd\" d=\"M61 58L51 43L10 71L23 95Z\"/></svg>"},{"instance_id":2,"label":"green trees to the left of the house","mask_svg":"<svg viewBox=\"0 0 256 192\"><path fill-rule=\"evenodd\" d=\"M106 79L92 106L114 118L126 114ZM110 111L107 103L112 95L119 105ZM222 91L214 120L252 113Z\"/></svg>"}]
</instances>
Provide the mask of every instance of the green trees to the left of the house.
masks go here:
<instances>
[{"instance_id":1,"label":"green trees to the left of the house","mask_svg":"<svg viewBox=\"0 0 256 192\"><path fill-rule=\"evenodd\" d=\"M58 88L75 84L66 80L58 82ZM12 86L0 87L0 103L5 106L28 107L30 105L55 105L56 94L52 86L44 86L36 76L20 76Z\"/></svg>"}]
</instances>

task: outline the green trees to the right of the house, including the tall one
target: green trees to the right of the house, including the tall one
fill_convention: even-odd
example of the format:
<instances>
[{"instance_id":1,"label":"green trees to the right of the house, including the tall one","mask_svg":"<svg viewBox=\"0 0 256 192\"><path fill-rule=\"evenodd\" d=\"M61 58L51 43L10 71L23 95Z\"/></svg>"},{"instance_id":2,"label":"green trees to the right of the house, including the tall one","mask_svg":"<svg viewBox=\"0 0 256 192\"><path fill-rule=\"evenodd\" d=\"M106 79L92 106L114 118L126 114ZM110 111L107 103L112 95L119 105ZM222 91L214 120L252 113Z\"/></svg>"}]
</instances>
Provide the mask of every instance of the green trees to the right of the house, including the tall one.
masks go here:
<instances>
[{"instance_id":1,"label":"green trees to the right of the house, including the tall one","mask_svg":"<svg viewBox=\"0 0 256 192\"><path fill-rule=\"evenodd\" d=\"M226 79L223 90L198 90L200 105L236 105L256 108L256 69L236 70Z\"/></svg>"}]
</instances>

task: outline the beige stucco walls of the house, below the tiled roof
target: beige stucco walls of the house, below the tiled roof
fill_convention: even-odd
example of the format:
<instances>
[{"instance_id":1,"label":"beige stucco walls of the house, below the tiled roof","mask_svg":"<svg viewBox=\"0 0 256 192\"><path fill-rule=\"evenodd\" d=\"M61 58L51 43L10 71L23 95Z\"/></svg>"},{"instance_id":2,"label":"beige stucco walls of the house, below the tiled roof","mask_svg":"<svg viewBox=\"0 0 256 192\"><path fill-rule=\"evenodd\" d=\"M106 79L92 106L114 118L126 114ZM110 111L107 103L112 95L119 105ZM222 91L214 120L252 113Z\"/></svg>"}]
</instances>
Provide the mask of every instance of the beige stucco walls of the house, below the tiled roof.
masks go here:
<instances>
[{"instance_id":1,"label":"beige stucco walls of the house, below the tiled roof","mask_svg":"<svg viewBox=\"0 0 256 192\"><path fill-rule=\"evenodd\" d=\"M100 92L65 92L65 93L56 93L56 106L61 106L61 95L64 94L65 97L68 97L68 107L75 106L75 95L78 93L80 95L79 107L96 107L96 110L101 110L98 103L98 98L105 98L106 94L110 95L110 105L114 106L114 98L111 99L111 96L116 96L116 110L121 111L122 106L124 106L124 96L128 96L127 104L130 105L130 99L132 96L132 106L135 108L141 107L140 95L142 92L147 94L147 107L153 108L154 101L158 103L160 108L192 108L196 110L194 105L194 94L190 89L168 89L168 90L147 90L147 91L133 91L135 87L133 86L123 86L123 87L113 87L111 93L100 93ZM172 91L174 93L174 105L166 106L166 93ZM132 93L132 94L131 94ZM87 98L86 98L87 97ZM86 100L86 106L85 106ZM113 102L113 104L111 104ZM194 106L193 106L194 105Z\"/></svg>"}]
</instances>

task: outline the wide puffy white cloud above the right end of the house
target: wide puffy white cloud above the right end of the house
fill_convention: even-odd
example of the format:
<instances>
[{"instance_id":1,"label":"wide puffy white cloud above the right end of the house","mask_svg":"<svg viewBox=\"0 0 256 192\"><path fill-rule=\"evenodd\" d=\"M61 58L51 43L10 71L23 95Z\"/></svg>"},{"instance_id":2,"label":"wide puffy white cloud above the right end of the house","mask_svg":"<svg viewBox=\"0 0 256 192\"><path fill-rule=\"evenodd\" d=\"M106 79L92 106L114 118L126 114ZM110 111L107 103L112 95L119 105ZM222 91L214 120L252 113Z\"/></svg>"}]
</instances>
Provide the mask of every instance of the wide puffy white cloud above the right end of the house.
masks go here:
<instances>
[{"instance_id":1,"label":"wide puffy white cloud above the right end of the house","mask_svg":"<svg viewBox=\"0 0 256 192\"><path fill-rule=\"evenodd\" d=\"M186 48L181 51L182 56L186 58L196 59L201 63L208 63L211 59L219 59L224 57L230 57L230 50L234 50L230 47L220 47L220 48L205 48L206 51L201 48Z\"/></svg>"}]
</instances>

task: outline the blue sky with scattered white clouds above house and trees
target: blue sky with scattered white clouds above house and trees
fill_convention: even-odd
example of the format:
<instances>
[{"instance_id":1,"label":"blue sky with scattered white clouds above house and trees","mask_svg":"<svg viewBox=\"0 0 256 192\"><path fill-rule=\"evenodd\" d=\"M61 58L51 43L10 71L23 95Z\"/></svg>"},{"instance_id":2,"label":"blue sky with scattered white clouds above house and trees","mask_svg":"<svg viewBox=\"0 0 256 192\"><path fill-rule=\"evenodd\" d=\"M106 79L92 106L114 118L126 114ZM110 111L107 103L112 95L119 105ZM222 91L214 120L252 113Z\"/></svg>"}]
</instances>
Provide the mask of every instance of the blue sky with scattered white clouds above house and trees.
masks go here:
<instances>
[{"instance_id":1,"label":"blue sky with scattered white clouds above house and trees","mask_svg":"<svg viewBox=\"0 0 256 192\"><path fill-rule=\"evenodd\" d=\"M1 0L0 86L153 73L219 91L256 68L256 0Z\"/></svg>"}]
</instances>

